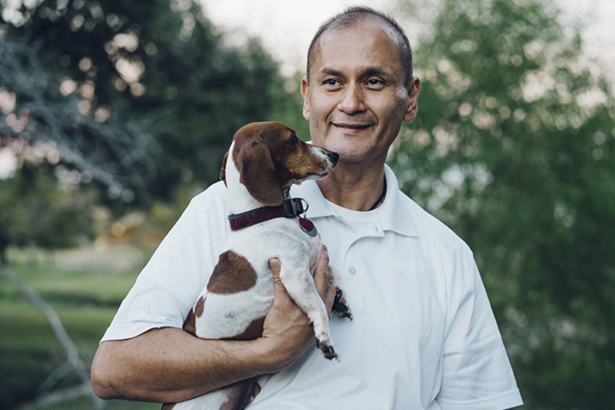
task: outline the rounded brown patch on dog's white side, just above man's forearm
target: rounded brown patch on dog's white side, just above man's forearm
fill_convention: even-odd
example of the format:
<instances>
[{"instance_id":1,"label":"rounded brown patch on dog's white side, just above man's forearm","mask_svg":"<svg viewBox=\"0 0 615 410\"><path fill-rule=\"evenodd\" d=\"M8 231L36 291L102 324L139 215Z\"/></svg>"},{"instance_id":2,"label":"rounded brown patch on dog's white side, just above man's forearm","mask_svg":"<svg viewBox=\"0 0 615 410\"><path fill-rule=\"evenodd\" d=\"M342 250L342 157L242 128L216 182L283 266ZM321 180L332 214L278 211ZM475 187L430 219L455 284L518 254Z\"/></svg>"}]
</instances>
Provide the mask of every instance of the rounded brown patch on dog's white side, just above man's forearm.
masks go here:
<instances>
[{"instance_id":1,"label":"rounded brown patch on dog's white side, just above man's forearm","mask_svg":"<svg viewBox=\"0 0 615 410\"><path fill-rule=\"evenodd\" d=\"M226 251L220 255L218 264L213 268L207 291L220 295L247 291L255 286L256 279L252 263L242 255Z\"/></svg>"}]
</instances>

